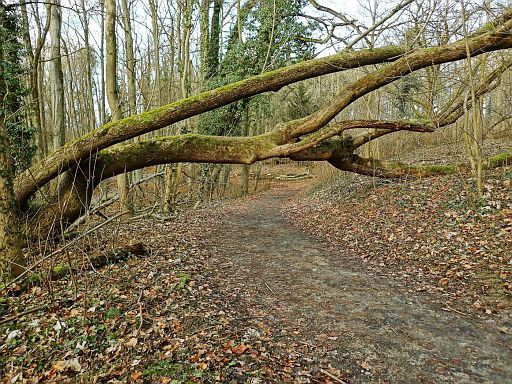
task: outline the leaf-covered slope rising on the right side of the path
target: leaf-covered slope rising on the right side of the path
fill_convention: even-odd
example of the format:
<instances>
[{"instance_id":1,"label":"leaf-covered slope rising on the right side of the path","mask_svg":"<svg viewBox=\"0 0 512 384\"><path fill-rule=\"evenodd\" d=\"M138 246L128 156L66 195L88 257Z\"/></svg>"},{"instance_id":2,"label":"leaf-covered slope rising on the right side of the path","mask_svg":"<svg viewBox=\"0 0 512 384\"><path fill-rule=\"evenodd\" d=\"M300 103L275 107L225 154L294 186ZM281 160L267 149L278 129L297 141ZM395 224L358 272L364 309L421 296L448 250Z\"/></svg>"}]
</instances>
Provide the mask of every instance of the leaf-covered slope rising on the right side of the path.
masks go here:
<instances>
[{"instance_id":1,"label":"leaf-covered slope rising on the right side of the path","mask_svg":"<svg viewBox=\"0 0 512 384\"><path fill-rule=\"evenodd\" d=\"M508 319L512 310L512 169L386 182L340 179L286 208L289 221L445 308ZM454 308L455 309L455 308Z\"/></svg>"}]
</instances>

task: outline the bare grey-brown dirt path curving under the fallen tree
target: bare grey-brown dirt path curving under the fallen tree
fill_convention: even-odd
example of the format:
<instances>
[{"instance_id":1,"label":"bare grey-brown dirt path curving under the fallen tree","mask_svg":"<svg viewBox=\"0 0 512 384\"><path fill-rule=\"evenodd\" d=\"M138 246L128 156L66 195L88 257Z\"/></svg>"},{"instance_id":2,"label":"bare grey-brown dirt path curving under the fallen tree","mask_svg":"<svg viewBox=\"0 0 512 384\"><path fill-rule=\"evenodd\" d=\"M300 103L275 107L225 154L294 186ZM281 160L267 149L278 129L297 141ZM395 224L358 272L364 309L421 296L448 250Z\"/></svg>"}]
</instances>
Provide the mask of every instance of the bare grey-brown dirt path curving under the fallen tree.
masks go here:
<instances>
[{"instance_id":1,"label":"bare grey-brown dirt path curving under the fallen tree","mask_svg":"<svg viewBox=\"0 0 512 384\"><path fill-rule=\"evenodd\" d=\"M292 189L228 208L208 246L219 279L242 287L312 353L356 383L512 383L512 337L378 276L280 215Z\"/></svg>"}]
</instances>

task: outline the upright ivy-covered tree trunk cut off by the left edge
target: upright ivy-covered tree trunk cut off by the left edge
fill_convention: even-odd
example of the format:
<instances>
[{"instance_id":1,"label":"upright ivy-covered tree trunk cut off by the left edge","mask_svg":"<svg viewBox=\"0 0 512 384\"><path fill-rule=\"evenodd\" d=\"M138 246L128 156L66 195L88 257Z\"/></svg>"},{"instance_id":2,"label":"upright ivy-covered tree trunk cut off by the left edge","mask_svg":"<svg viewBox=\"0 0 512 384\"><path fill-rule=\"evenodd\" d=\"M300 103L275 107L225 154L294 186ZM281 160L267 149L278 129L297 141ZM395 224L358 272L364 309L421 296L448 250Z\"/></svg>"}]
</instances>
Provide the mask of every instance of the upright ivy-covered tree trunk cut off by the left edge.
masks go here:
<instances>
[{"instance_id":1,"label":"upright ivy-covered tree trunk cut off by the left edge","mask_svg":"<svg viewBox=\"0 0 512 384\"><path fill-rule=\"evenodd\" d=\"M13 166L5 123L5 78L8 64L3 59L5 8L0 0L0 277L2 280L23 271L20 225L13 189Z\"/></svg>"}]
</instances>

